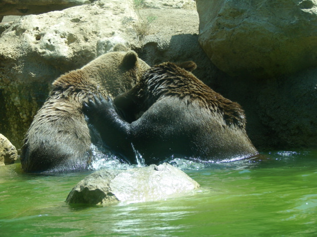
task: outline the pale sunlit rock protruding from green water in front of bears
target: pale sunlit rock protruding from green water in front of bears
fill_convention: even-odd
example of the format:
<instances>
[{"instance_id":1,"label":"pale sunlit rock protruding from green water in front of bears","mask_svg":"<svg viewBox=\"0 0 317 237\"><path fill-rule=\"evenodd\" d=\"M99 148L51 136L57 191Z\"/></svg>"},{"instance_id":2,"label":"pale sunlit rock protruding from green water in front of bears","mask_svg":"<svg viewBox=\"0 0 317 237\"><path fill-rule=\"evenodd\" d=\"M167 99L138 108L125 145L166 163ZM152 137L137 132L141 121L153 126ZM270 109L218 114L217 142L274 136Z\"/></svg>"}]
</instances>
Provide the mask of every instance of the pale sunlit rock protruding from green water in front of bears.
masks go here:
<instances>
[{"instance_id":1,"label":"pale sunlit rock protruding from green water in front of bears","mask_svg":"<svg viewBox=\"0 0 317 237\"><path fill-rule=\"evenodd\" d=\"M180 169L163 163L128 170L99 170L80 181L68 203L109 204L153 201L180 195L200 185Z\"/></svg>"}]
</instances>

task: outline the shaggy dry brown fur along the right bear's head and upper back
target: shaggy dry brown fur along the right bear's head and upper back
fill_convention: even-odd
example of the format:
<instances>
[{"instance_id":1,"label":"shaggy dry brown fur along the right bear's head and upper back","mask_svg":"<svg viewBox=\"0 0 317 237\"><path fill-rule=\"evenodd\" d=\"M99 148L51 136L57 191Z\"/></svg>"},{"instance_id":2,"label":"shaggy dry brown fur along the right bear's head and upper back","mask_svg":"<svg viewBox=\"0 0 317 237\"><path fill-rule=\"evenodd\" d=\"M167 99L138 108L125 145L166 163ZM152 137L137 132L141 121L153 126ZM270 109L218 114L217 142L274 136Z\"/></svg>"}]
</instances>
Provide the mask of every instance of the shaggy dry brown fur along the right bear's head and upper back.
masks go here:
<instances>
[{"instance_id":1,"label":"shaggy dry brown fur along the right bear's head and upper back","mask_svg":"<svg viewBox=\"0 0 317 237\"><path fill-rule=\"evenodd\" d=\"M191 61L179 65L165 62L149 69L144 78L147 80L148 90L156 96L177 96L187 100L187 103L196 102L212 113L222 114L226 124L245 127L246 117L242 107L196 78L190 72L195 68L196 64Z\"/></svg>"}]
</instances>

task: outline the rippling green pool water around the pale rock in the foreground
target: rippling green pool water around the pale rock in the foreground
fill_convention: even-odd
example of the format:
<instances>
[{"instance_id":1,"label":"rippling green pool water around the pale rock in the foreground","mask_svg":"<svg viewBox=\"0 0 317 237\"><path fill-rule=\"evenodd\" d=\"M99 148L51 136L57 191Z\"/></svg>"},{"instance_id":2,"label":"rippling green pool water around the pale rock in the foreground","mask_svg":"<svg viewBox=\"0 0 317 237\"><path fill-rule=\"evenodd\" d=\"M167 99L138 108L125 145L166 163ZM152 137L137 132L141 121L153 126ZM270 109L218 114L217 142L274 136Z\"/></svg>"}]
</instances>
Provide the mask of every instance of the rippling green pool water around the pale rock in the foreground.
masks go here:
<instances>
[{"instance_id":1,"label":"rippling green pool water around the pale rock in the foreground","mask_svg":"<svg viewBox=\"0 0 317 237\"><path fill-rule=\"evenodd\" d=\"M317 151L184 170L202 186L185 197L70 206L86 175L28 175L0 167L0 237L316 237Z\"/></svg>"}]
</instances>

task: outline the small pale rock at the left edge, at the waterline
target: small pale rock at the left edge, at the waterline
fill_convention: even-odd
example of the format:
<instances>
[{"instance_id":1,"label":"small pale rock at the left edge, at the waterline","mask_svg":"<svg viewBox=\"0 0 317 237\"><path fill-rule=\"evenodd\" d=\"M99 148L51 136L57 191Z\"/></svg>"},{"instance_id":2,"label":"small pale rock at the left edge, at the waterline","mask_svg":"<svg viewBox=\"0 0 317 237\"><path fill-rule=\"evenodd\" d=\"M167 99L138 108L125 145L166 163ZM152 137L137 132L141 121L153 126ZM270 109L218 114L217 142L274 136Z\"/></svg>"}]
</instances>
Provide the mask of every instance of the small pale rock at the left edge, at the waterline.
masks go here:
<instances>
[{"instance_id":1,"label":"small pale rock at the left edge, at the waterline","mask_svg":"<svg viewBox=\"0 0 317 237\"><path fill-rule=\"evenodd\" d=\"M13 164L18 158L17 151L11 142L0 134L0 166Z\"/></svg>"}]
</instances>

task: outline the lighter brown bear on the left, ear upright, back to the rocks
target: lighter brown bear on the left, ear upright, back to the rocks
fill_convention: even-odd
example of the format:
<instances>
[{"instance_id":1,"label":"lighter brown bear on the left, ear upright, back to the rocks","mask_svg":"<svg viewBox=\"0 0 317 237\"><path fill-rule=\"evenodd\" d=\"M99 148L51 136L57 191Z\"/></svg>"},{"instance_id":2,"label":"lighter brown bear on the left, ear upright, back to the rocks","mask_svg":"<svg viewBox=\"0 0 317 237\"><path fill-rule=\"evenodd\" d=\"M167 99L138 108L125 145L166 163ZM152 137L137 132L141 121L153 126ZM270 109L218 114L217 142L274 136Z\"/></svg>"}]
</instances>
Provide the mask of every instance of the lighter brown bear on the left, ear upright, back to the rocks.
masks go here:
<instances>
[{"instance_id":1,"label":"lighter brown bear on the left, ear upright, back to the rocks","mask_svg":"<svg viewBox=\"0 0 317 237\"><path fill-rule=\"evenodd\" d=\"M82 111L95 94L114 98L132 88L150 68L122 44L53 82L53 89L26 133L21 166L26 172L87 169L92 137ZM105 135L105 134L104 134Z\"/></svg>"}]
</instances>

